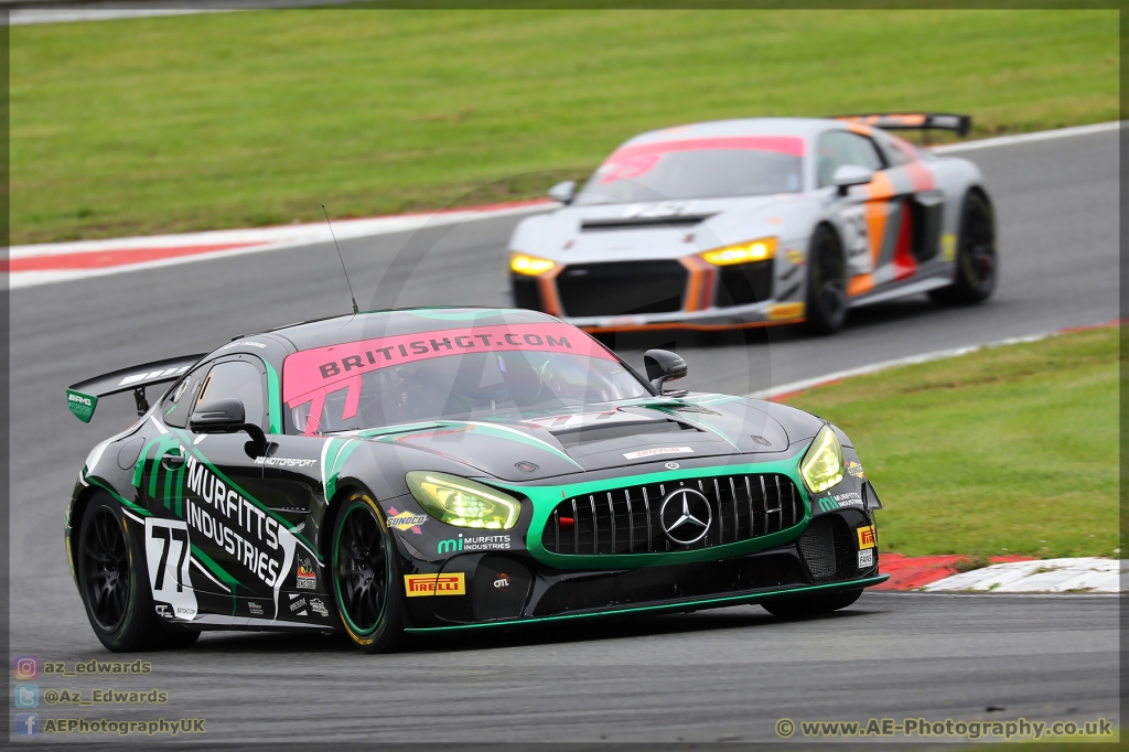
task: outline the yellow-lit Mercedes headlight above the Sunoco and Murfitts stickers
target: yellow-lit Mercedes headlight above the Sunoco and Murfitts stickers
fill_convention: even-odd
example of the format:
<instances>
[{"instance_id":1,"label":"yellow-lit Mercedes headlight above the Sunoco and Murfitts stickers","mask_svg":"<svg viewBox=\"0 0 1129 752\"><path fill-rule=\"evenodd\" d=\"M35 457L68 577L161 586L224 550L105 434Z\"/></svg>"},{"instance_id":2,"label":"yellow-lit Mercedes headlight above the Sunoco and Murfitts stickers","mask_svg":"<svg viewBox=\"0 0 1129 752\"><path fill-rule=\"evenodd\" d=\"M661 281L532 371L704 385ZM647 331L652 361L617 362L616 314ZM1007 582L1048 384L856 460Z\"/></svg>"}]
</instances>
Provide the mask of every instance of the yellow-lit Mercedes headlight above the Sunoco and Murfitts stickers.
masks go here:
<instances>
[{"instance_id":1,"label":"yellow-lit Mercedes headlight above the Sunoco and Murfitts stickers","mask_svg":"<svg viewBox=\"0 0 1129 752\"><path fill-rule=\"evenodd\" d=\"M447 525L509 530L522 515L514 497L465 478L412 471L406 481L423 510Z\"/></svg>"}]
</instances>

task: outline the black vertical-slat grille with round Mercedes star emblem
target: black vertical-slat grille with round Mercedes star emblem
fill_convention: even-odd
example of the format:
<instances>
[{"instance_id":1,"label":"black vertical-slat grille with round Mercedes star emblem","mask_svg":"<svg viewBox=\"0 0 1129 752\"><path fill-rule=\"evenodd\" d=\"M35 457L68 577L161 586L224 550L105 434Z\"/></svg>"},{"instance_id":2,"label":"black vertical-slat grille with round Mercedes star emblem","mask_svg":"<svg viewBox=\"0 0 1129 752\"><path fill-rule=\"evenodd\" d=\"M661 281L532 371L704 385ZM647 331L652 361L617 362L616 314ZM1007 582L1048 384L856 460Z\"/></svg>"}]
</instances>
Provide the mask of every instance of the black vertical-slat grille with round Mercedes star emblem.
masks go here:
<instances>
[{"instance_id":1,"label":"black vertical-slat grille with round Mercedes star emblem","mask_svg":"<svg viewBox=\"0 0 1129 752\"><path fill-rule=\"evenodd\" d=\"M668 493L690 488L706 497L712 522L690 545L672 542L659 511ZM541 534L553 553L689 551L778 533L804 518L804 501L787 475L723 475L586 493L557 505Z\"/></svg>"}]
</instances>

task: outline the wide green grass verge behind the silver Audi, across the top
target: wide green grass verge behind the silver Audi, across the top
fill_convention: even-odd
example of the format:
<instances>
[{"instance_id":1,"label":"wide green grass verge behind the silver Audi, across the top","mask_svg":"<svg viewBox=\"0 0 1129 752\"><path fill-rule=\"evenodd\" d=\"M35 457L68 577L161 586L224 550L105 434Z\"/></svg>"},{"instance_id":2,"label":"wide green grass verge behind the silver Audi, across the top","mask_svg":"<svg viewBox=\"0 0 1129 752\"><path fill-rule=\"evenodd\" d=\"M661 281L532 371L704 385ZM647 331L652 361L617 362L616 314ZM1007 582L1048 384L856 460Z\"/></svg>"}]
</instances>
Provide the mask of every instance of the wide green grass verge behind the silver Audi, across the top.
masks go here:
<instances>
[{"instance_id":1,"label":"wide green grass verge behind the silver Audi, across the top","mask_svg":"<svg viewBox=\"0 0 1129 752\"><path fill-rule=\"evenodd\" d=\"M540 195L699 120L1115 120L1115 10L314 9L11 28L16 244Z\"/></svg>"}]
</instances>

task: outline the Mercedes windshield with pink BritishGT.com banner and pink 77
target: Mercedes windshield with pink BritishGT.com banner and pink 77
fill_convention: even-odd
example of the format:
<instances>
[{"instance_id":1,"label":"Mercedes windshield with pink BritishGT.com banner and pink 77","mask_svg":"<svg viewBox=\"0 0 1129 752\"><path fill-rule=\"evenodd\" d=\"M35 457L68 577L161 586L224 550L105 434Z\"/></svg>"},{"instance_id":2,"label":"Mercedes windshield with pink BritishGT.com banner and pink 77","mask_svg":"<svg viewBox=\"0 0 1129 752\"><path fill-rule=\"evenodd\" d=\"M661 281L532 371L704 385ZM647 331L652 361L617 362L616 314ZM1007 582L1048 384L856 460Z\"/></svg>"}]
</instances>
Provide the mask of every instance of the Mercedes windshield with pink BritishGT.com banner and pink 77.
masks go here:
<instances>
[{"instance_id":1,"label":"Mercedes windshield with pink BritishGT.com banner and pink 77","mask_svg":"<svg viewBox=\"0 0 1129 752\"><path fill-rule=\"evenodd\" d=\"M611 402L649 392L568 324L397 334L287 357L287 431L318 435Z\"/></svg>"}]
</instances>

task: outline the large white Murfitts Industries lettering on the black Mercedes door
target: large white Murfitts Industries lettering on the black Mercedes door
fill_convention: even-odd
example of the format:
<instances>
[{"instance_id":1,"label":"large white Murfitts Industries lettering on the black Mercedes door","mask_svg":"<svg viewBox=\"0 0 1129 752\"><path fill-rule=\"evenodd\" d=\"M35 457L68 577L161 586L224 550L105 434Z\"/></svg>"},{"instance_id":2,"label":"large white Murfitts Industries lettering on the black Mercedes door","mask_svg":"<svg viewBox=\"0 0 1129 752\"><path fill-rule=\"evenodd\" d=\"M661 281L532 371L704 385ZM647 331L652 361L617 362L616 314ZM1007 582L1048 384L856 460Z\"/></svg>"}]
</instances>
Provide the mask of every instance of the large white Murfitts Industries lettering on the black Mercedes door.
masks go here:
<instances>
[{"instance_id":1,"label":"large white Murfitts Industries lettering on the black Mercedes door","mask_svg":"<svg viewBox=\"0 0 1129 752\"><path fill-rule=\"evenodd\" d=\"M277 604L279 586L294 561L297 539L196 457L189 455L185 471L185 486L192 495L185 499L189 527L208 539L200 541L193 536L193 542L202 544L212 558L225 552L220 566L226 569L234 559L235 567L246 569L251 577L274 591Z\"/></svg>"}]
</instances>

